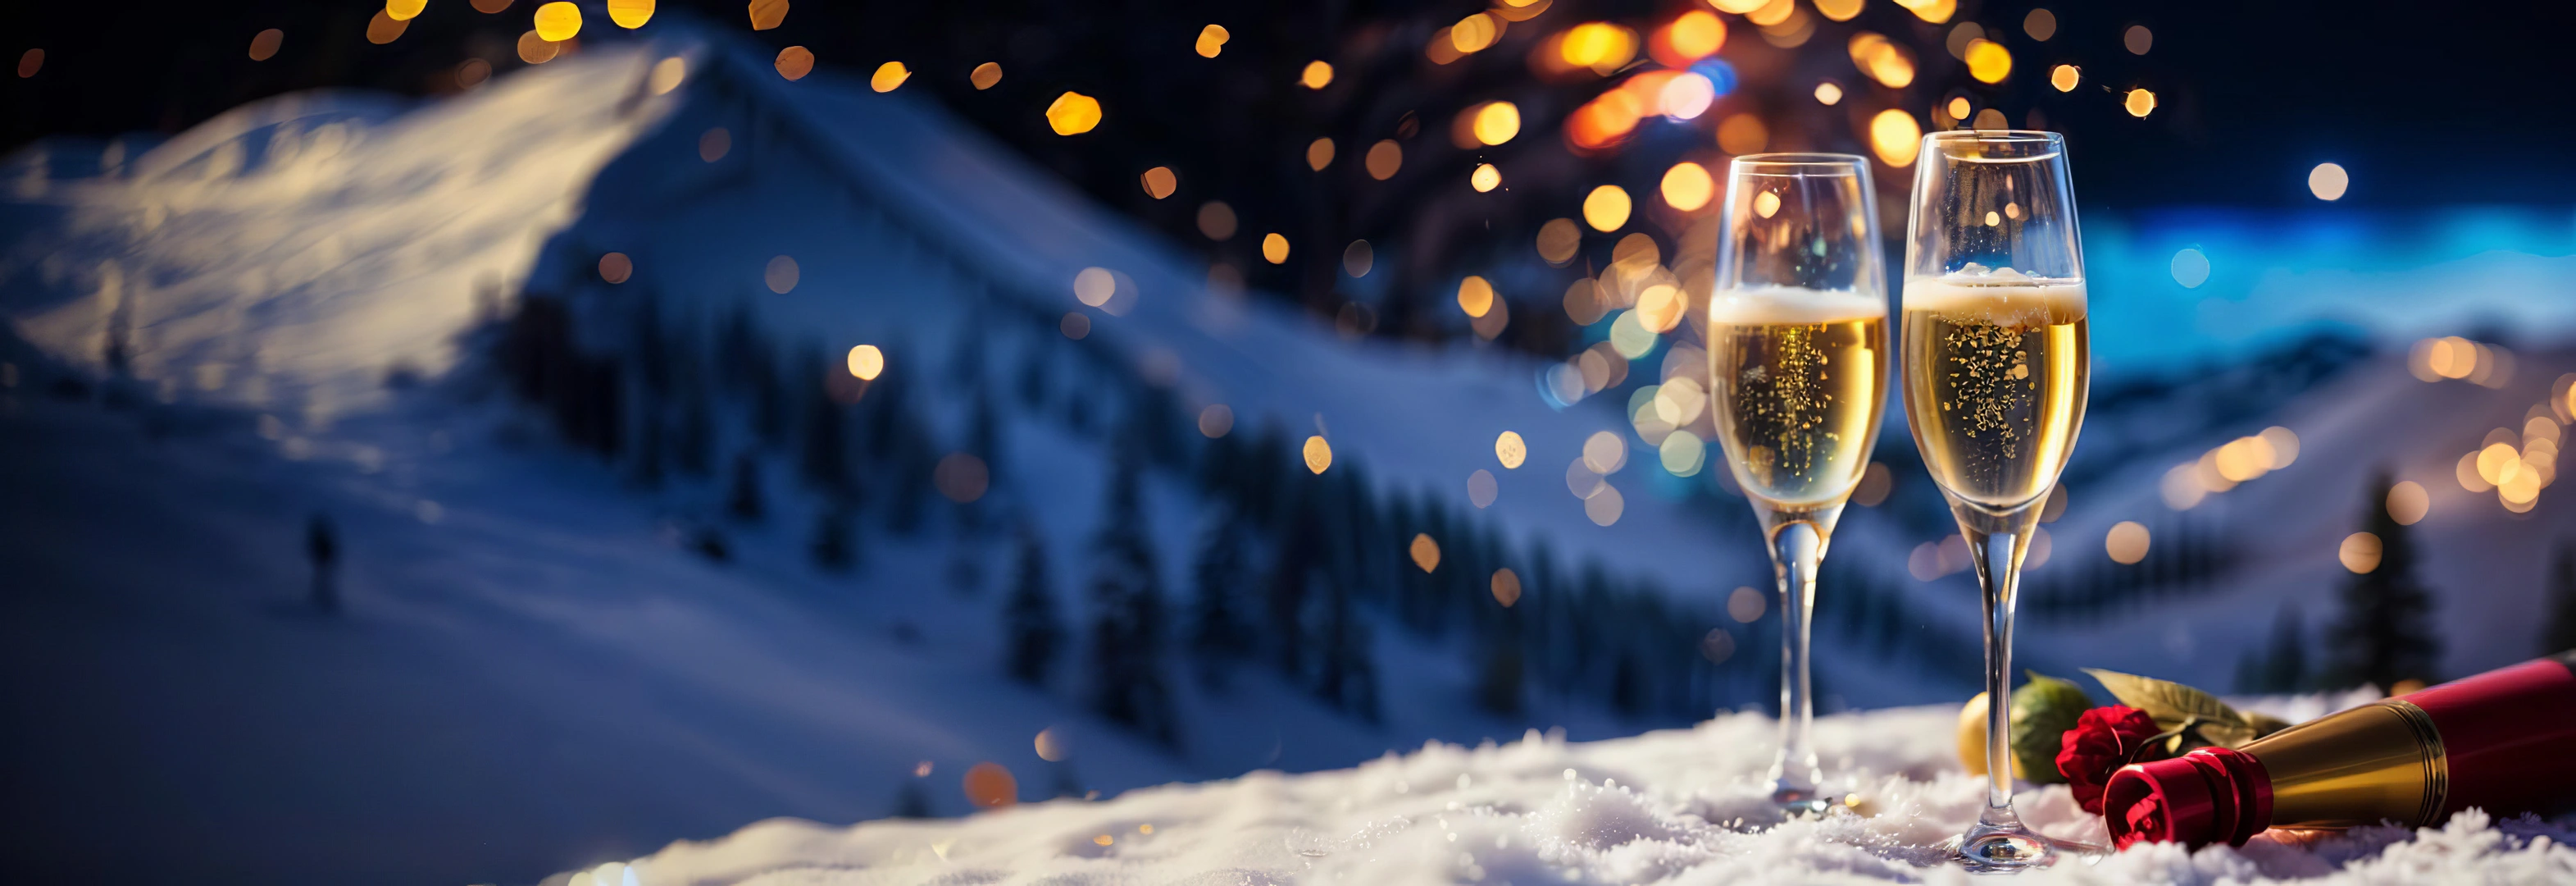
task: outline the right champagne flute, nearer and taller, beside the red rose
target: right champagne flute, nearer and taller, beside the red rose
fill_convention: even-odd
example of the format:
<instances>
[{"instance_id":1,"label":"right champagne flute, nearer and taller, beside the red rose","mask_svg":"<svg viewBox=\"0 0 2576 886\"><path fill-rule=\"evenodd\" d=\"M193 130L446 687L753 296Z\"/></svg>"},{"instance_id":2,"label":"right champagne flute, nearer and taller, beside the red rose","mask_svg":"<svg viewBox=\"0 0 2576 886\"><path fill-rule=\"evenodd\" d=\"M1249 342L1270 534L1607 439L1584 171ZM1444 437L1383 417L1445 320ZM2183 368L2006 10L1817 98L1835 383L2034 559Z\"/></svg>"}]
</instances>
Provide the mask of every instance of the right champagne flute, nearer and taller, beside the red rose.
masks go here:
<instances>
[{"instance_id":1,"label":"right champagne flute, nearer and taller, beside the red rose","mask_svg":"<svg viewBox=\"0 0 2576 886\"><path fill-rule=\"evenodd\" d=\"M2084 425L2084 250L2053 131L1935 131L1906 222L1906 425L1950 500L1986 603L1986 811L1958 863L2056 860L2012 814L2012 605L2022 554Z\"/></svg>"}]
</instances>

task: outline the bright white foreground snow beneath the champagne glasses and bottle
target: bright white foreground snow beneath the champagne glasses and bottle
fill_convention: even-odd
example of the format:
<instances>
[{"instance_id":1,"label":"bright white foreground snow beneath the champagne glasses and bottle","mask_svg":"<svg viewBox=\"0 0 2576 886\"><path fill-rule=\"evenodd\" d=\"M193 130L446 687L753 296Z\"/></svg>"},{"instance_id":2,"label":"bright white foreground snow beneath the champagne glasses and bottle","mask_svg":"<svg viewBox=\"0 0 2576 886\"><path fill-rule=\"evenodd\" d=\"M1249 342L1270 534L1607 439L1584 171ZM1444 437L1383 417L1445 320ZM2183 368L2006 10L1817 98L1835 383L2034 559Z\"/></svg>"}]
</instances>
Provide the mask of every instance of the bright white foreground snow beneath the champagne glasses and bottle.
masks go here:
<instances>
[{"instance_id":1,"label":"bright white foreground snow beneath the champagne glasses and bottle","mask_svg":"<svg viewBox=\"0 0 2576 886\"><path fill-rule=\"evenodd\" d=\"M1824 819L1767 814L1772 724L1736 713L1589 744L1538 731L1510 744L1432 742L1352 770L1252 773L956 822L775 819L546 883L1963 883L1937 842L1976 819L1984 780L1953 762L1955 716L1935 706L1819 719L1819 749L1857 796L1855 811ZM2105 840L2063 786L2014 804L2050 837ZM2421 832L2269 832L2241 850L2074 855L2022 881L2537 883L2576 876L2571 837L2576 819L2468 811Z\"/></svg>"}]
</instances>

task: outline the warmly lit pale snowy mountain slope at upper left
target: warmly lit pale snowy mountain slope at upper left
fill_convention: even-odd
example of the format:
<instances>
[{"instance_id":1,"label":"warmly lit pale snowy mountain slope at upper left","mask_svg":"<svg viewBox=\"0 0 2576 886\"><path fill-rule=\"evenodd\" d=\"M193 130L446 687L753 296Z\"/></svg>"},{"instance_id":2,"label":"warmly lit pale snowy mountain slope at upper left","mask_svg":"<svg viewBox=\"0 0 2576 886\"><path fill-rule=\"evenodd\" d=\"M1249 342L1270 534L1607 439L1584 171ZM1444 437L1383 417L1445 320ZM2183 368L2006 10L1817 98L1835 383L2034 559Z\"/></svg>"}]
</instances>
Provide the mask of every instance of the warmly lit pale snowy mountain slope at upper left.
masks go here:
<instances>
[{"instance_id":1,"label":"warmly lit pale snowy mountain slope at upper left","mask_svg":"<svg viewBox=\"0 0 2576 886\"><path fill-rule=\"evenodd\" d=\"M312 420L376 404L386 371L453 366L477 294L518 288L582 185L662 118L652 62L595 52L417 108L281 95L137 157L39 144L13 160L0 306L82 366L129 327L134 373L165 397Z\"/></svg>"}]
</instances>

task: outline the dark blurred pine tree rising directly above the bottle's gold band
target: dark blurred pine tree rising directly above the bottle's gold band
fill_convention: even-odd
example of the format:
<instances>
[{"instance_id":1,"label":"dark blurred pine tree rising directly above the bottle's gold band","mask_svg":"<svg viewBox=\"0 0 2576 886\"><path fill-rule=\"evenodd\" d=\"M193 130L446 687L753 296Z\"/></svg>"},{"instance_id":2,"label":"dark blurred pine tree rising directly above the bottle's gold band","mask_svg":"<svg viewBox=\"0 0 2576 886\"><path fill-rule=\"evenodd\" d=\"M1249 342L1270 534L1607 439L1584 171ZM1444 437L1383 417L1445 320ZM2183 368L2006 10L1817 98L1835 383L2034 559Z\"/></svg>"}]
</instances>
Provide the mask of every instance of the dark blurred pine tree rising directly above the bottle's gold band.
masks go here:
<instances>
[{"instance_id":1,"label":"dark blurred pine tree rising directly above the bottle's gold band","mask_svg":"<svg viewBox=\"0 0 2576 886\"><path fill-rule=\"evenodd\" d=\"M2380 564L2344 582L2344 618L2334 626L2339 677L2380 690L2398 680L2434 683L2442 641L2432 628L2432 590L2414 574L2414 538L2388 515L2388 474L2365 489L2362 531L2380 538Z\"/></svg>"}]
</instances>

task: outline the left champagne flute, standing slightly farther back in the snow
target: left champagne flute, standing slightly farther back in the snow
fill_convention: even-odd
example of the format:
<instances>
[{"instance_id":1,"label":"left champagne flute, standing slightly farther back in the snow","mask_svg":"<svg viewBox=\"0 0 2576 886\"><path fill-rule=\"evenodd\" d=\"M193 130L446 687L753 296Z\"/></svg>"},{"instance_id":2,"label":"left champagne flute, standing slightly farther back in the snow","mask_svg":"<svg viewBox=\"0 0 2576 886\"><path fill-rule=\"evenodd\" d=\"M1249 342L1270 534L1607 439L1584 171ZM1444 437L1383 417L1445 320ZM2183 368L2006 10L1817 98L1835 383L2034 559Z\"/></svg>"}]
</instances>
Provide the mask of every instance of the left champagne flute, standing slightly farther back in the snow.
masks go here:
<instances>
[{"instance_id":1,"label":"left champagne flute, standing slightly farther back in the snow","mask_svg":"<svg viewBox=\"0 0 2576 886\"><path fill-rule=\"evenodd\" d=\"M1780 580L1772 804L1821 814L1832 798L1808 742L1816 564L1870 466L1888 399L1888 278L1868 160L1744 155L1726 167L1708 391Z\"/></svg>"}]
</instances>

